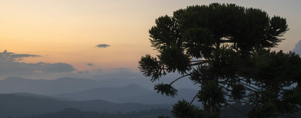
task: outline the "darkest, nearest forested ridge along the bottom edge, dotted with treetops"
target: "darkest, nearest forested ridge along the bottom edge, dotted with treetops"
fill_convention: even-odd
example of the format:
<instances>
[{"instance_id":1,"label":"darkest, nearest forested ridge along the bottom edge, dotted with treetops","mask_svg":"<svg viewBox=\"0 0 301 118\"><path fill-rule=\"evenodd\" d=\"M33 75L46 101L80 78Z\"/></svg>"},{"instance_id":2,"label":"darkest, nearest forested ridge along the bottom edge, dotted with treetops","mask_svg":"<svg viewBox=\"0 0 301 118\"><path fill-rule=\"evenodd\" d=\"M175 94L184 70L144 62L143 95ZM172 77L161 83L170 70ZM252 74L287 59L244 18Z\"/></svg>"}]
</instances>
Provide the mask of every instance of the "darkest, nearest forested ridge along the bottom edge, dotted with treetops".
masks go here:
<instances>
[{"instance_id":1,"label":"darkest, nearest forested ridge along the bottom edge, dotted with treetops","mask_svg":"<svg viewBox=\"0 0 301 118\"><path fill-rule=\"evenodd\" d=\"M240 110L241 112L247 114L251 108L247 105L242 104L231 104L232 107ZM244 114L238 112L232 107L225 107L221 111L221 118L247 118ZM128 113L119 112L107 113L107 112L96 112L96 111L81 111L74 108L67 108L61 111L56 111L52 113L37 114L32 116L20 117L20 118L157 118L158 116L168 116L172 117L169 109L166 108L152 108L150 110L139 110L131 111ZM298 112L295 115L297 118L301 117L301 113ZM286 118L285 116L277 116L277 118Z\"/></svg>"}]
</instances>

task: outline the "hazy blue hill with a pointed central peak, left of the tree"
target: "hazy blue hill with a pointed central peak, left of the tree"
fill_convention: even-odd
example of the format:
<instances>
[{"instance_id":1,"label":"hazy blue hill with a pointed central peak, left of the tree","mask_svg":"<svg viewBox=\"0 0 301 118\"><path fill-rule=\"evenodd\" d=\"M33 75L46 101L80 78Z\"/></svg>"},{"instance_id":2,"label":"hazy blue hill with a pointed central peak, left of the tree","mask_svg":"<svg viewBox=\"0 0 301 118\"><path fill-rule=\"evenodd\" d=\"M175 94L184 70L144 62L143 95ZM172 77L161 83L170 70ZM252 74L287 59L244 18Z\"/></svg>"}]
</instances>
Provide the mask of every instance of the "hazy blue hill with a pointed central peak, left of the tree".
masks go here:
<instances>
[{"instance_id":1,"label":"hazy blue hill with a pointed central peak, left of the tree","mask_svg":"<svg viewBox=\"0 0 301 118\"><path fill-rule=\"evenodd\" d=\"M101 99L113 103L135 102L142 104L175 104L180 99L191 101L197 92L197 90L193 89L178 89L178 96L172 98L160 93L157 94L157 91L148 90L137 84L131 84L124 87L100 87L80 92L57 94L54 96L76 100Z\"/></svg>"}]
</instances>

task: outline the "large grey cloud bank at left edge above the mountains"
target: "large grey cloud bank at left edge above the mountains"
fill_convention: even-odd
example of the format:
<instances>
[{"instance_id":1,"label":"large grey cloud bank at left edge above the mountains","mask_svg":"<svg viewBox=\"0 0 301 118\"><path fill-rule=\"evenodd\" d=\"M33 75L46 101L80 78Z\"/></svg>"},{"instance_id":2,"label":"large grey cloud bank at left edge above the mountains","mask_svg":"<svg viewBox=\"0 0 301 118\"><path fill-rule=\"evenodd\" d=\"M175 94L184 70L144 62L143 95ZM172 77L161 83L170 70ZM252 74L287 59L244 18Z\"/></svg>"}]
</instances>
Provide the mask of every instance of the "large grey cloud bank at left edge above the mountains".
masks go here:
<instances>
[{"instance_id":1,"label":"large grey cloud bank at left edge above the mountains","mask_svg":"<svg viewBox=\"0 0 301 118\"><path fill-rule=\"evenodd\" d=\"M38 57L39 55L15 54L6 50L0 53L0 75L2 76L23 76L38 73L68 73L75 71L72 65L67 63L25 63L16 62L15 58ZM18 59L22 60L22 59Z\"/></svg>"}]
</instances>

